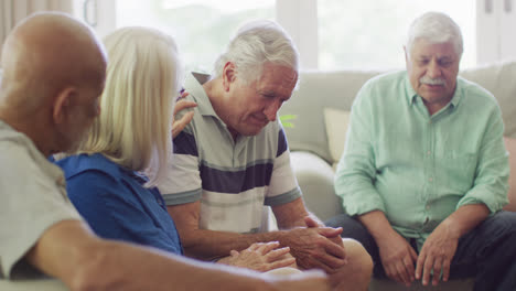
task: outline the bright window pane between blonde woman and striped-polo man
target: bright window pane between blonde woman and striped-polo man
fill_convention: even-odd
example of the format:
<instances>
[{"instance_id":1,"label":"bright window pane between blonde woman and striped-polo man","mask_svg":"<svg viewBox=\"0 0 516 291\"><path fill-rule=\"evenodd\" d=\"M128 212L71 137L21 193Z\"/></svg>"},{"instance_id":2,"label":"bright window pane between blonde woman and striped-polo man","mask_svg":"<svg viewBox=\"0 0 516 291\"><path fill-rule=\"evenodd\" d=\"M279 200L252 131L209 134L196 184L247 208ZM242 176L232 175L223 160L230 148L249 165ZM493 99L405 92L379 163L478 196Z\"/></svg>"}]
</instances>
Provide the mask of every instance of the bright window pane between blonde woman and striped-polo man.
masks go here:
<instances>
[{"instance_id":1,"label":"bright window pane between blonde woman and striped-polo man","mask_svg":"<svg viewBox=\"0 0 516 291\"><path fill-rule=\"evenodd\" d=\"M187 71L212 72L241 23L275 19L275 0L120 0L117 28L146 25L174 36Z\"/></svg>"}]
</instances>

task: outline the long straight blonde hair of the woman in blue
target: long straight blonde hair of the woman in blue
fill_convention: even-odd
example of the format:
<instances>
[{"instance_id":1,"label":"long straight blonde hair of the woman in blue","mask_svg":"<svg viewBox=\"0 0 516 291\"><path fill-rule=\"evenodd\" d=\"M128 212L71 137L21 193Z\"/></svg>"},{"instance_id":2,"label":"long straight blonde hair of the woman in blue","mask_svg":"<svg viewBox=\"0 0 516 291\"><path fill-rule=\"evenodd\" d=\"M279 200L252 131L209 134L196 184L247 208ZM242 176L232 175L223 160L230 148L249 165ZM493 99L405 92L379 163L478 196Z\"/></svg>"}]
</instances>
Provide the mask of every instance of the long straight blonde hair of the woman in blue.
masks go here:
<instances>
[{"instance_id":1,"label":"long straight blonde hair of the woman in blue","mask_svg":"<svg viewBox=\"0 0 516 291\"><path fill-rule=\"evenodd\" d=\"M174 40L153 29L123 28L105 39L109 57L100 116L79 152L103 153L149 176L166 174L172 112L181 80Z\"/></svg>"}]
</instances>

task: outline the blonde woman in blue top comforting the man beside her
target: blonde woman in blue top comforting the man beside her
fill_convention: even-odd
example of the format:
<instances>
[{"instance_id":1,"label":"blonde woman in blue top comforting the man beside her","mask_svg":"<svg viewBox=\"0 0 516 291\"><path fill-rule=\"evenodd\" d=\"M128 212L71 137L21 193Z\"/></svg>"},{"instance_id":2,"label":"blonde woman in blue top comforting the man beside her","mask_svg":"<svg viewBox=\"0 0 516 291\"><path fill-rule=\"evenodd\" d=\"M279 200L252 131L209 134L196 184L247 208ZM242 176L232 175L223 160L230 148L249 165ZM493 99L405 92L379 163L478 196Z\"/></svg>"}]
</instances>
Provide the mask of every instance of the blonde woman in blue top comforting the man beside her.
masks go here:
<instances>
[{"instance_id":1,"label":"blonde woman in blue top comforting the man beside her","mask_svg":"<svg viewBox=\"0 0 516 291\"><path fill-rule=\"evenodd\" d=\"M94 231L182 255L174 222L155 185L166 174L181 67L172 37L125 28L105 40L109 64L101 112L74 155L57 161L71 201ZM195 106L182 100L180 109ZM189 112L174 132L192 118ZM256 244L223 261L259 271L291 266L289 248Z\"/></svg>"}]
</instances>

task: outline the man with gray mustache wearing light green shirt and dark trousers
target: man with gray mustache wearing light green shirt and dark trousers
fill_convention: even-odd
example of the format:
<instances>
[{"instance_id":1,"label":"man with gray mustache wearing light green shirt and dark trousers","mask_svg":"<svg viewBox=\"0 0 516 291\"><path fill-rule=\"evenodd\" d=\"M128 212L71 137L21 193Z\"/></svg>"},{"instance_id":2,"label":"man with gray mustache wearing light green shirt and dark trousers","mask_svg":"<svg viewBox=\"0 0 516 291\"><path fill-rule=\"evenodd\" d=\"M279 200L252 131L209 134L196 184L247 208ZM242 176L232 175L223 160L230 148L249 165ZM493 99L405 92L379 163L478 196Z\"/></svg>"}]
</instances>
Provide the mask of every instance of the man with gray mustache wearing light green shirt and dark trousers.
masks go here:
<instances>
[{"instance_id":1,"label":"man with gray mustache wearing light green shirt and dark trousers","mask_svg":"<svg viewBox=\"0 0 516 291\"><path fill-rule=\"evenodd\" d=\"M353 104L335 176L346 215L326 225L363 244L375 277L516 290L498 105L458 77L462 35L448 15L416 19L404 48L407 71L370 79Z\"/></svg>"}]
</instances>

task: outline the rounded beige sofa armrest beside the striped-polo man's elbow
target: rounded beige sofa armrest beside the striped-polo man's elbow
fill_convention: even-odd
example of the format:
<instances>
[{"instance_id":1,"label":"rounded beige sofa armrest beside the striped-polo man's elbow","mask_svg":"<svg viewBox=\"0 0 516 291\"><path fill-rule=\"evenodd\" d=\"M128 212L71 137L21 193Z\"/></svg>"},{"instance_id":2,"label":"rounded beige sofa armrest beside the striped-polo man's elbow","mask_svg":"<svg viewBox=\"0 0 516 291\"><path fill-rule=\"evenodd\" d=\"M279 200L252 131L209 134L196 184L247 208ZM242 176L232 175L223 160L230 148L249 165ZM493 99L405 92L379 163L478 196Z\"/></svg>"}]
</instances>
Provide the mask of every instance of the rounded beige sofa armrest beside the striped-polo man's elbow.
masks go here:
<instances>
[{"instance_id":1,"label":"rounded beige sofa armrest beside the striped-polo man's elbow","mask_svg":"<svg viewBox=\"0 0 516 291\"><path fill-rule=\"evenodd\" d=\"M342 201L333 187L332 166L321 157L307 151L294 151L290 159L309 211L322 220L343 213Z\"/></svg>"}]
</instances>

